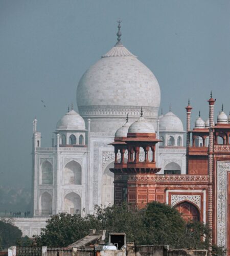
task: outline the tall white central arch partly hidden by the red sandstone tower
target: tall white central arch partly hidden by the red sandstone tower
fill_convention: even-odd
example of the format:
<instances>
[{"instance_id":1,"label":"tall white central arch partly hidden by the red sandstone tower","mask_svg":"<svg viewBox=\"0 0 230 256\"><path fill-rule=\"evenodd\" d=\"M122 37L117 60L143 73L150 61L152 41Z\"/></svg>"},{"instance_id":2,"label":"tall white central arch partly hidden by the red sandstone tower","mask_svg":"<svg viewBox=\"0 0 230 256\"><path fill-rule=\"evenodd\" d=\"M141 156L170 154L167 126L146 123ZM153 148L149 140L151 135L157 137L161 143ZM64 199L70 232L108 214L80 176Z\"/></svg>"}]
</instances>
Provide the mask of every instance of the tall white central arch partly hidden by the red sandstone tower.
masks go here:
<instances>
[{"instance_id":1,"label":"tall white central arch partly hidden by the red sandstone tower","mask_svg":"<svg viewBox=\"0 0 230 256\"><path fill-rule=\"evenodd\" d=\"M114 163L109 163L102 175L102 205L113 204L114 201L114 174L110 172L109 168L113 168Z\"/></svg>"}]
</instances>

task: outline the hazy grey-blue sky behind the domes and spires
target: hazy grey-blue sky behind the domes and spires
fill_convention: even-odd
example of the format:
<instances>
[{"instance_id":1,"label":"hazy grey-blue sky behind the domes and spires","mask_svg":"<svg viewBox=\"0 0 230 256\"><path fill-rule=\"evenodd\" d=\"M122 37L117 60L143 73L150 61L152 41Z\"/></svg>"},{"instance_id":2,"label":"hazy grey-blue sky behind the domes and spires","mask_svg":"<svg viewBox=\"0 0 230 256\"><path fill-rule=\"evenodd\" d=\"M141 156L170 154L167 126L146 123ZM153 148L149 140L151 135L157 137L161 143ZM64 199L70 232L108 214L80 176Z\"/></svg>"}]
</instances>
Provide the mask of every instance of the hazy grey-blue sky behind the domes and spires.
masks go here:
<instances>
[{"instance_id":1,"label":"hazy grey-blue sky behind the domes and spires","mask_svg":"<svg viewBox=\"0 0 230 256\"><path fill-rule=\"evenodd\" d=\"M51 145L86 69L116 43L155 74L164 113L184 124L188 98L193 121L208 118L210 90L230 110L229 0L1 0L0 185L31 185L32 121L42 146ZM43 100L47 108L43 107Z\"/></svg>"}]
</instances>

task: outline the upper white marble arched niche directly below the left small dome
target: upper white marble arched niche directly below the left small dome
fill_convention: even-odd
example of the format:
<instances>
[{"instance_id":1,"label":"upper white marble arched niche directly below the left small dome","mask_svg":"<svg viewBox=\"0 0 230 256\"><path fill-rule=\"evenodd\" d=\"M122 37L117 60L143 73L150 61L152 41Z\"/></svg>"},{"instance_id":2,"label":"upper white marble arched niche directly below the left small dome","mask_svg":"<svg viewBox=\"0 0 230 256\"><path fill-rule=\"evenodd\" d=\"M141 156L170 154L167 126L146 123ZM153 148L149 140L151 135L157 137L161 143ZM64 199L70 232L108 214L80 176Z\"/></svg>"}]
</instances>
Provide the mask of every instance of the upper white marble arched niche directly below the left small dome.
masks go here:
<instances>
[{"instance_id":1,"label":"upper white marble arched niche directly below the left small dome","mask_svg":"<svg viewBox=\"0 0 230 256\"><path fill-rule=\"evenodd\" d=\"M68 162L64 167L64 185L81 185L81 165L76 161Z\"/></svg>"}]
</instances>

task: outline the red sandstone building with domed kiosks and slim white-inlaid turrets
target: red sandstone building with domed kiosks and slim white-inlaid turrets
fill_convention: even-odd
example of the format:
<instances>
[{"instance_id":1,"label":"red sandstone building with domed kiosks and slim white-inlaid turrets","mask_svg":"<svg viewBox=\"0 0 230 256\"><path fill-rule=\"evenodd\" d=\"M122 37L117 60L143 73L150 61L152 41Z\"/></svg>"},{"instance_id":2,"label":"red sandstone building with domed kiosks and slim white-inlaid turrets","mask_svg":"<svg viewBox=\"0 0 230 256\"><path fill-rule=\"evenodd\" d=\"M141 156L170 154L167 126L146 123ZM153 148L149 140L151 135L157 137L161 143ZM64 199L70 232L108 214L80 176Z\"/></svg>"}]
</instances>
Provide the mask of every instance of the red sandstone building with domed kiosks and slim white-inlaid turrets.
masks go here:
<instances>
[{"instance_id":1,"label":"red sandstone building with domed kiosks and slim white-inlaid turrets","mask_svg":"<svg viewBox=\"0 0 230 256\"><path fill-rule=\"evenodd\" d=\"M212 94L208 102L208 126L198 118L193 130L190 128L192 107L190 103L186 107L186 175L157 175L160 166L156 166L155 149L160 140L143 114L130 126L121 127L122 136L115 137L111 143L115 153L114 168L110 169L114 173L114 202L127 201L139 208L151 201L170 204L186 220L209 223L213 243L230 248L230 122L222 109L214 124ZM144 150L144 161L139 158L141 150Z\"/></svg>"}]
</instances>

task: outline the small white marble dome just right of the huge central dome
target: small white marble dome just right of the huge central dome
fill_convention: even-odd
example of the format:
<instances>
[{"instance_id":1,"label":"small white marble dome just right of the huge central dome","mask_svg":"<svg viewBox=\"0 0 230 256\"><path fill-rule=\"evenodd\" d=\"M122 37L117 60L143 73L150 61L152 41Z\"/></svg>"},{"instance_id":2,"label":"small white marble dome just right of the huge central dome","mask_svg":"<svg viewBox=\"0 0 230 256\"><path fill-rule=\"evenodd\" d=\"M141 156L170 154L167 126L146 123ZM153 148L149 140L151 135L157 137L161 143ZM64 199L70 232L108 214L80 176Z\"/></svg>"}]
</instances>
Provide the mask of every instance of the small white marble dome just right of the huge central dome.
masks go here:
<instances>
[{"instance_id":1,"label":"small white marble dome just right of the huge central dome","mask_svg":"<svg viewBox=\"0 0 230 256\"><path fill-rule=\"evenodd\" d=\"M183 132L183 124L178 116L171 111L165 114L159 120L160 132Z\"/></svg>"}]
</instances>

